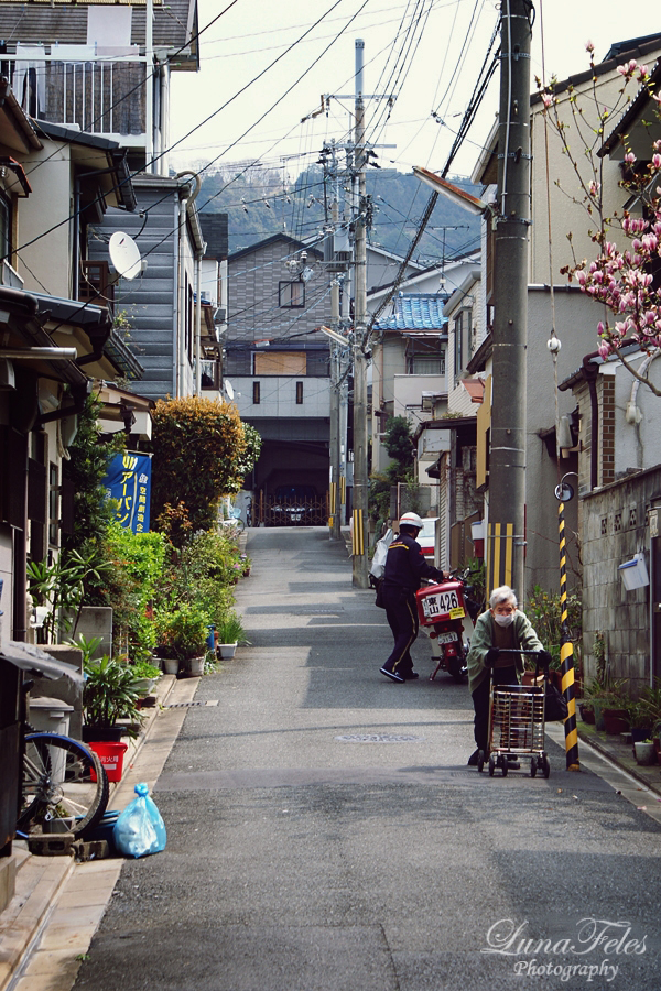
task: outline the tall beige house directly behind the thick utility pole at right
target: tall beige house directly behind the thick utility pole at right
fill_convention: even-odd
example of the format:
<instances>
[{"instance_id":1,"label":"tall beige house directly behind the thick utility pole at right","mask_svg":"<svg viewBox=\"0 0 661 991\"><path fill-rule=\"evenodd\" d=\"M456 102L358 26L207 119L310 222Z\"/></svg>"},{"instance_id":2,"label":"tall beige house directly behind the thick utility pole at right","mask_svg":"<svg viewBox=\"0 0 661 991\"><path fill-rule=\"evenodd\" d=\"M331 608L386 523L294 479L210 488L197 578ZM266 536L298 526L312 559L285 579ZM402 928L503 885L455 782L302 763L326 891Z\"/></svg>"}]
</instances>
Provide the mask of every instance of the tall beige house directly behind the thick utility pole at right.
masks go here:
<instances>
[{"instance_id":1,"label":"tall beige house directly behind the thick utility pole at right","mask_svg":"<svg viewBox=\"0 0 661 991\"><path fill-rule=\"evenodd\" d=\"M608 53L606 59L589 69L578 73L555 86L561 105L561 116L572 120L570 100L590 96L596 89L598 105L614 106L621 76L617 66L629 57L644 56L659 51L659 37L631 42L618 47L617 54ZM613 57L611 57L613 56ZM590 96L592 99L592 96ZM589 100L587 101L589 104ZM594 106L594 105L593 105ZM589 127L589 106L586 109ZM546 143L546 137L549 141ZM576 209L571 193L574 190L573 167L563 154L560 141L548 135L544 107L535 94L531 97L531 235L529 254L528 294L528 386L527 386L527 553L523 588L524 597L535 584L553 590L557 587L557 502L554 496L557 479L576 470L576 437L571 435L571 426L576 423L576 403L557 385L566 375L582 364L583 357L595 348L595 329L598 315L592 301L581 294L575 285L567 285L560 269L572 263L572 251L577 258L589 257L595 248L588 235L589 224L583 211ZM570 132L570 141L576 139ZM546 156L549 149L549 157ZM497 178L498 128L495 126L473 175L473 181L481 183L487 192L483 199L494 196ZM620 176L617 163L605 163L603 182L606 208L610 211L621 208L622 193L618 187ZM552 177L552 178L550 178ZM549 207L550 204L550 207ZM491 225L484 225L483 281L485 283L484 304L486 326L492 320L492 239ZM567 233L573 235L573 247ZM550 242L552 251L550 252ZM550 268L550 255L552 269ZM553 286L553 291L551 291ZM546 342L556 335L561 350L549 350ZM474 371L485 375L485 403L494 401L490 389L489 358L483 352L484 366ZM497 401L497 398L496 398ZM562 435L561 435L562 428ZM565 436L566 435L566 436ZM477 486L485 498L485 519L488 519L488 438L489 413L485 407L477 435ZM583 443L581 440L579 443ZM573 457L559 457L559 450ZM579 531L578 500L570 502L566 511L566 535L570 581L579 582Z\"/></svg>"}]
</instances>

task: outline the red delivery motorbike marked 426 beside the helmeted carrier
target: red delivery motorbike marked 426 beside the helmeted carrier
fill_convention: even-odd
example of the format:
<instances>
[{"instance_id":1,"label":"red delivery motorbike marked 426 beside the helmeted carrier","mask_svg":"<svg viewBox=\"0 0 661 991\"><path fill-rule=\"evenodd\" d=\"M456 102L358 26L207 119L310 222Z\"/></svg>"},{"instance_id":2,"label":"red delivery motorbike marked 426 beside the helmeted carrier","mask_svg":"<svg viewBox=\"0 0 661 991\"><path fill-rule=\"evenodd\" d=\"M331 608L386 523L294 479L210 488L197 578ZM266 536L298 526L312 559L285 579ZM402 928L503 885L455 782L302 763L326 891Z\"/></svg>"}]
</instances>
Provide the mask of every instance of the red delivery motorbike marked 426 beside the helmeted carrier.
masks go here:
<instances>
[{"instance_id":1,"label":"red delivery motorbike marked 426 beside the helmeted carrier","mask_svg":"<svg viewBox=\"0 0 661 991\"><path fill-rule=\"evenodd\" d=\"M458 684L466 676L464 620L469 616L475 622L480 611L479 603L470 598L470 591L460 576L453 575L438 585L427 585L415 592L420 625L433 627L427 634L438 642L441 649L438 664L430 682L440 671L447 672Z\"/></svg>"}]
</instances>

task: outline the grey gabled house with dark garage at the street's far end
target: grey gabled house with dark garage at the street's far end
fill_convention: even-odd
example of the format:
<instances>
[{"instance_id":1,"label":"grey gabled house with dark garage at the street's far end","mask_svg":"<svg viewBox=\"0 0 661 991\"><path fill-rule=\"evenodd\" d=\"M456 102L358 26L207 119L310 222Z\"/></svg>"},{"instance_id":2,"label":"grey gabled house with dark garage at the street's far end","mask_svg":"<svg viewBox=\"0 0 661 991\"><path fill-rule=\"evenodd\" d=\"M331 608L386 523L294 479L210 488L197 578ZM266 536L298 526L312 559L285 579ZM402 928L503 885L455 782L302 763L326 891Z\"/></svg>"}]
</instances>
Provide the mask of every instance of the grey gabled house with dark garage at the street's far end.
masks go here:
<instances>
[{"instance_id":1,"label":"grey gabled house with dark garage at the street's far end","mask_svg":"<svg viewBox=\"0 0 661 991\"><path fill-rule=\"evenodd\" d=\"M246 486L256 508L272 503L278 489L307 487L319 523L326 521L330 372L328 339L318 328L330 323L330 277L323 251L284 233L228 259L224 373L241 420L263 442Z\"/></svg>"}]
</instances>

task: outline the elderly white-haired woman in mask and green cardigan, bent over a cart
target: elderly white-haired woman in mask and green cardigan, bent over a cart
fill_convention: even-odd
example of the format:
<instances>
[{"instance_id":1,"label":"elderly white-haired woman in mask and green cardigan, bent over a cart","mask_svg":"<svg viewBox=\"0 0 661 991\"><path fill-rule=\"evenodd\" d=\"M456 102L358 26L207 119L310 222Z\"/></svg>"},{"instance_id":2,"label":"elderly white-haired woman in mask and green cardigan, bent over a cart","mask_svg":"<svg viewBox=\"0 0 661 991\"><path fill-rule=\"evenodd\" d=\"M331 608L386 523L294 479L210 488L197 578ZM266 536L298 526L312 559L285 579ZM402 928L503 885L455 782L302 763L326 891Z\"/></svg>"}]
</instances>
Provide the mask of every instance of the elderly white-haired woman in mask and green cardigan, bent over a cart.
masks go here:
<instances>
[{"instance_id":1,"label":"elderly white-haired woman in mask and green cardigan, bent over a cart","mask_svg":"<svg viewBox=\"0 0 661 991\"><path fill-rule=\"evenodd\" d=\"M523 657L511 653L517 650L539 651L541 664L551 661L530 620L517 608L517 597L508 585L494 589L489 607L477 618L467 658L477 745L468 758L472 766L477 764L478 751L488 755L490 675L495 685L517 685L523 673Z\"/></svg>"}]
</instances>

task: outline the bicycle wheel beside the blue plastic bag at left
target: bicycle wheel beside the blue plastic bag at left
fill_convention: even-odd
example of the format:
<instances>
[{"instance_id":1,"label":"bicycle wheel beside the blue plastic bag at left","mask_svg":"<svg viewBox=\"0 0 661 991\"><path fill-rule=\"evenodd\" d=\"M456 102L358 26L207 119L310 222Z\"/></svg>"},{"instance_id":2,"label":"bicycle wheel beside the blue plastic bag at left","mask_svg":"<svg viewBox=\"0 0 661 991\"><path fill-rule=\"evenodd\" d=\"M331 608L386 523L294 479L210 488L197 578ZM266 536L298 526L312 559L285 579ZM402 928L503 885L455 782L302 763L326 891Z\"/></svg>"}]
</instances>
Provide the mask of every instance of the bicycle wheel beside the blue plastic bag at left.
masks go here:
<instances>
[{"instance_id":1,"label":"bicycle wheel beside the blue plastic bag at left","mask_svg":"<svg viewBox=\"0 0 661 991\"><path fill-rule=\"evenodd\" d=\"M108 777L96 753L58 733L25 737L19 836L83 835L97 825L107 804Z\"/></svg>"}]
</instances>

